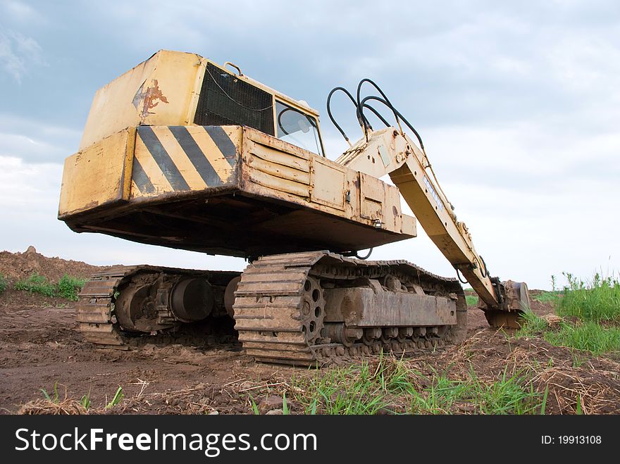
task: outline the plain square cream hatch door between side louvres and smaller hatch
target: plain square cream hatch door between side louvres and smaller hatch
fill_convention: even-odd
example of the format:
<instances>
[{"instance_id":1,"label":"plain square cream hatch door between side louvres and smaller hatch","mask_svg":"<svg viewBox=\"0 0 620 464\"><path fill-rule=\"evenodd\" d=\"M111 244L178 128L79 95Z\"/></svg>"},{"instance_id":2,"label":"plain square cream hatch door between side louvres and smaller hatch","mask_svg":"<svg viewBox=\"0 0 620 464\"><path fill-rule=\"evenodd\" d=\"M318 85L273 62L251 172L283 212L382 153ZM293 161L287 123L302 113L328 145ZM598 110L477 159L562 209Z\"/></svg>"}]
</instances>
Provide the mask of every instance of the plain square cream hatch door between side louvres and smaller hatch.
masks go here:
<instances>
[{"instance_id":1,"label":"plain square cream hatch door between side louvres and smaller hatch","mask_svg":"<svg viewBox=\"0 0 620 464\"><path fill-rule=\"evenodd\" d=\"M345 209L345 168L315 156L312 158L311 201Z\"/></svg>"}]
</instances>

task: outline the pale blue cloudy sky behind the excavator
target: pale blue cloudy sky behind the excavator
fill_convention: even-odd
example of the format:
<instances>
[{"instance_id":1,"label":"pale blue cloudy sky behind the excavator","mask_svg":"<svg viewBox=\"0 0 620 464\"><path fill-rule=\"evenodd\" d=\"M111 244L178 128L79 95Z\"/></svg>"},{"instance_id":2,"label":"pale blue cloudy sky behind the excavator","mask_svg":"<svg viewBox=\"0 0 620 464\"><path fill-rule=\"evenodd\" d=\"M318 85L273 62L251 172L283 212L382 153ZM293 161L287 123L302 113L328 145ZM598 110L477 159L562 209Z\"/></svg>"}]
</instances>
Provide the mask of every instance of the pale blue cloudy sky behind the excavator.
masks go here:
<instances>
[{"instance_id":1,"label":"pale blue cloudy sky behind the excavator","mask_svg":"<svg viewBox=\"0 0 620 464\"><path fill-rule=\"evenodd\" d=\"M94 264L244 268L56 220L94 92L159 49L192 51L317 108L378 82L421 133L492 274L549 288L620 269L620 2L0 0L0 249ZM350 104L335 102L352 139ZM454 275L420 236L376 249ZM562 280L560 279L562 282Z\"/></svg>"}]
</instances>

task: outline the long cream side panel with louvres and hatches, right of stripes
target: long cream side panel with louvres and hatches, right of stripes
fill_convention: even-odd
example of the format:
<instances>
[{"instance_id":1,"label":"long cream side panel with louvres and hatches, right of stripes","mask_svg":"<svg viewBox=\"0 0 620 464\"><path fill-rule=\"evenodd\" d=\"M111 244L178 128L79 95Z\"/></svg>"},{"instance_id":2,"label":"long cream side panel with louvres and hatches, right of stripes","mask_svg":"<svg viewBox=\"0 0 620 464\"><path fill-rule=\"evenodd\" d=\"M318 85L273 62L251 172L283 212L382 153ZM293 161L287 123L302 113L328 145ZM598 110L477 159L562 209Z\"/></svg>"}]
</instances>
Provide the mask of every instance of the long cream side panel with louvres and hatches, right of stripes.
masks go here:
<instances>
[{"instance_id":1,"label":"long cream side panel with louvres and hatches, right of stripes","mask_svg":"<svg viewBox=\"0 0 620 464\"><path fill-rule=\"evenodd\" d=\"M240 177L241 189L247 194L372 227L380 220L383 230L416 235L415 219L402 214L396 187L249 127L244 128L243 139ZM289 227L287 220L269 220L263 225L269 227L273 222L277 230Z\"/></svg>"}]
</instances>

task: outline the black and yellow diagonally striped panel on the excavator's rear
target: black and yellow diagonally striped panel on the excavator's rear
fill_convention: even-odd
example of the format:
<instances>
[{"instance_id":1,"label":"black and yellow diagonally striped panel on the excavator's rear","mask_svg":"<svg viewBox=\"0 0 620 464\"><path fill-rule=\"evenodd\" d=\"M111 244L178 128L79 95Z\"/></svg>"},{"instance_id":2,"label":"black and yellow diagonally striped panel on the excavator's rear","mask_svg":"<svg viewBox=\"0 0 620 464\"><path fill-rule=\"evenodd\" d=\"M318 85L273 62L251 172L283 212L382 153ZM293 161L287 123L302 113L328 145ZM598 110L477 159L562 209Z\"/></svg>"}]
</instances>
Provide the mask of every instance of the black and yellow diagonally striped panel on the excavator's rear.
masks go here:
<instances>
[{"instance_id":1,"label":"black and yellow diagonally striped panel on the excavator's rear","mask_svg":"<svg viewBox=\"0 0 620 464\"><path fill-rule=\"evenodd\" d=\"M137 127L131 196L190 192L235 182L238 126Z\"/></svg>"}]
</instances>

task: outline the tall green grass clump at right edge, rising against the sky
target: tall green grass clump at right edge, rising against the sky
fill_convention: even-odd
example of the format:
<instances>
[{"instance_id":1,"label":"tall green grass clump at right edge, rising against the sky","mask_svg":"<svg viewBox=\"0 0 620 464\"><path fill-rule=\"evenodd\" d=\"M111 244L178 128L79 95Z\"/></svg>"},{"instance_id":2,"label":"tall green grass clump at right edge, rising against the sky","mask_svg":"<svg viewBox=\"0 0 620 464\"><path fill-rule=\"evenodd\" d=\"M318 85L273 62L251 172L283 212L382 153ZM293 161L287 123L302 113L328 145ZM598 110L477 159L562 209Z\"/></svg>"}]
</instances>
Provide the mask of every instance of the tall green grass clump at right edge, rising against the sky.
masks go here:
<instances>
[{"instance_id":1,"label":"tall green grass clump at right edge, rising against the sky","mask_svg":"<svg viewBox=\"0 0 620 464\"><path fill-rule=\"evenodd\" d=\"M620 282L616 277L601 277L597 272L592 280L583 282L571 274L564 296L559 300L557 313L584 321L620 322Z\"/></svg>"}]
</instances>

